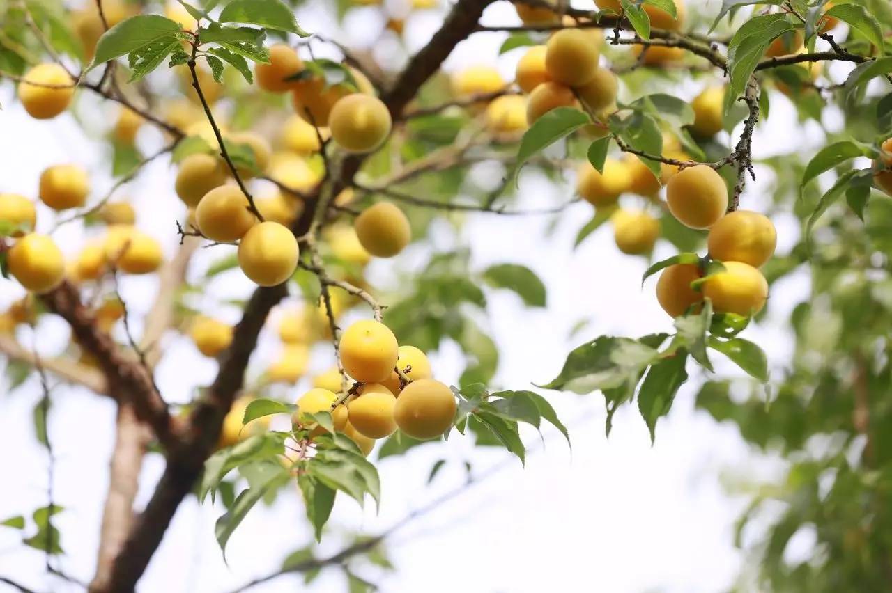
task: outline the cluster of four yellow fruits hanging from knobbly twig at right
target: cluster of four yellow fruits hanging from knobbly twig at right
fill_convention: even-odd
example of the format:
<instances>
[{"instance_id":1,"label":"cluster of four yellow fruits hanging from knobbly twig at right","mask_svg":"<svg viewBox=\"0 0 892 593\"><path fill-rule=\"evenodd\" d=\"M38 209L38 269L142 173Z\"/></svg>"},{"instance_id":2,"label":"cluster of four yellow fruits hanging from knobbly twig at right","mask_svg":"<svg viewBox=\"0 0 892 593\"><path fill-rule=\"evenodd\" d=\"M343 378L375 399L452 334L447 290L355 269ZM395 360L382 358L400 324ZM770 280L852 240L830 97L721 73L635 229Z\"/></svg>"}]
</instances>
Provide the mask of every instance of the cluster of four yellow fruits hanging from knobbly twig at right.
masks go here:
<instances>
[{"instance_id":1,"label":"cluster of four yellow fruits hanging from knobbly twig at right","mask_svg":"<svg viewBox=\"0 0 892 593\"><path fill-rule=\"evenodd\" d=\"M698 264L674 264L657 280L657 301L673 317L696 311L704 297L716 313L758 313L768 298L768 282L758 268L777 245L777 232L767 216L747 210L725 214L728 188L711 167L687 167L666 184L669 211L692 229L709 229L709 256L724 269L711 274L702 286L691 283L703 277Z\"/></svg>"}]
</instances>

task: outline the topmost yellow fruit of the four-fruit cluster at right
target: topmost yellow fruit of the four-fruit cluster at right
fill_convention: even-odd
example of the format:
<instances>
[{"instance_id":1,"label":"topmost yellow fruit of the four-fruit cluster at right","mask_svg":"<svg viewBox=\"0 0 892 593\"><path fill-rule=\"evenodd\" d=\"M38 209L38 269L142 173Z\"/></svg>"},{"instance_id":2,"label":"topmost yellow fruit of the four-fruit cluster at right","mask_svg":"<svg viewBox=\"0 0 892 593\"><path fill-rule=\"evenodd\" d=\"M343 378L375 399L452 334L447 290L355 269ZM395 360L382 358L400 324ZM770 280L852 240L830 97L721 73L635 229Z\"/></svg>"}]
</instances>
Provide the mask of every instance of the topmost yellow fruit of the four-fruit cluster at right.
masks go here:
<instances>
[{"instance_id":1,"label":"topmost yellow fruit of the four-fruit cluster at right","mask_svg":"<svg viewBox=\"0 0 892 593\"><path fill-rule=\"evenodd\" d=\"M708 229L728 209L728 188L712 167L687 167L666 183L666 204L692 229Z\"/></svg>"}]
</instances>

